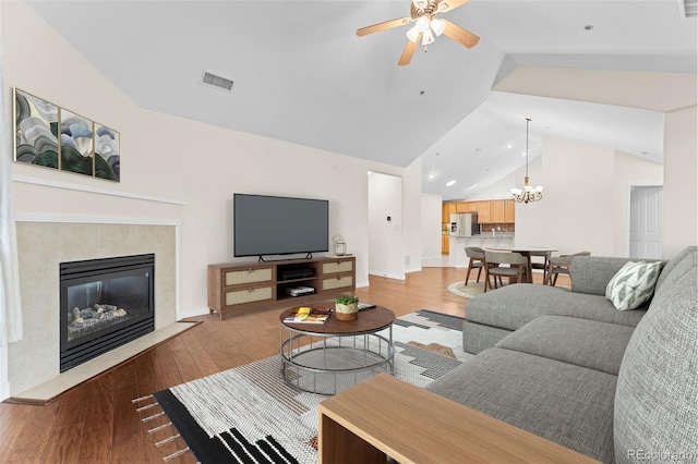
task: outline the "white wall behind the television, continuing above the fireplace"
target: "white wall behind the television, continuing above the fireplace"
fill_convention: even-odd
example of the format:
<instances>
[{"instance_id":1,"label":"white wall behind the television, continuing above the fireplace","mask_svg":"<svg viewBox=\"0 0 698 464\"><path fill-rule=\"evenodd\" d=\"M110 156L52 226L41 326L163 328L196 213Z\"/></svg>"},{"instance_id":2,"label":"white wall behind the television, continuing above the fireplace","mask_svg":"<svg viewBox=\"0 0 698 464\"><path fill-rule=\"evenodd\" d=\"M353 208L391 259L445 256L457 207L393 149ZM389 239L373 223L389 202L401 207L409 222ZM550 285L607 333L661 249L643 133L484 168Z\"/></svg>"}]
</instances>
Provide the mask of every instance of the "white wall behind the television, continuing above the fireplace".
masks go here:
<instances>
[{"instance_id":1,"label":"white wall behind the television, continuing above the fireplace","mask_svg":"<svg viewBox=\"0 0 698 464\"><path fill-rule=\"evenodd\" d=\"M0 8L5 85L121 133L121 183L23 163L14 163L15 176L180 202L157 203L14 182L17 213L181 221L178 318L182 318L207 313L206 265L233 260L233 193L326 198L330 202L330 236L345 236L348 252L357 256L357 284L368 285L366 172L401 176L405 169L144 111L26 4L2 2ZM4 110L12 121L11 108ZM406 197L419 197L419 182L405 182L404 190ZM207 228L209 222L212 229ZM421 230L410 228L404 233L404 243L413 247Z\"/></svg>"}]
</instances>

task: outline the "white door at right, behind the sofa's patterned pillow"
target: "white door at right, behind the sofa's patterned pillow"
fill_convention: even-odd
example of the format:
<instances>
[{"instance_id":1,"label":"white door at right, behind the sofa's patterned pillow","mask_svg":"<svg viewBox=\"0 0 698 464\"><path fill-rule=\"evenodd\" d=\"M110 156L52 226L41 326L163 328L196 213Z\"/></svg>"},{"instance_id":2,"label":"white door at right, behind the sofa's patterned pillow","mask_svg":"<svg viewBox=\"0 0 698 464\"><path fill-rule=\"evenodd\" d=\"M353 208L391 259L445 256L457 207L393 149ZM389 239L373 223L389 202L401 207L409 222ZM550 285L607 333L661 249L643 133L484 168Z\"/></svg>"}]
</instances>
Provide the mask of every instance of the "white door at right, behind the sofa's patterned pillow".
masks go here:
<instances>
[{"instance_id":1,"label":"white door at right, behind the sofa's patterned pillow","mask_svg":"<svg viewBox=\"0 0 698 464\"><path fill-rule=\"evenodd\" d=\"M630 258L662 257L662 186L630 187Z\"/></svg>"}]
</instances>

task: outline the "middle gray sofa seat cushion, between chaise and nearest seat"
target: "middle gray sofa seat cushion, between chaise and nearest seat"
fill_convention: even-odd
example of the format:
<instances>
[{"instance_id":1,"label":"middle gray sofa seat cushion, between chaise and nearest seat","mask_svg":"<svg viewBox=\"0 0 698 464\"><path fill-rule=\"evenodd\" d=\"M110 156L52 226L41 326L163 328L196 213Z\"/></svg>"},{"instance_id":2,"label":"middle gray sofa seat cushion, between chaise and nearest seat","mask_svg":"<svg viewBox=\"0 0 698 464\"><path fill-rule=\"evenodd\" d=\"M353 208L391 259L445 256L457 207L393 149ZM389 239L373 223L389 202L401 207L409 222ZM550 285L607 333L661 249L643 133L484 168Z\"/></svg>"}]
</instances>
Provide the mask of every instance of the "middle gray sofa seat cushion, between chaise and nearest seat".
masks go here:
<instances>
[{"instance_id":1,"label":"middle gray sofa seat cushion, between chaise and nearest seat","mask_svg":"<svg viewBox=\"0 0 698 464\"><path fill-rule=\"evenodd\" d=\"M495 346L618 375L635 329L565 316L540 316Z\"/></svg>"}]
</instances>

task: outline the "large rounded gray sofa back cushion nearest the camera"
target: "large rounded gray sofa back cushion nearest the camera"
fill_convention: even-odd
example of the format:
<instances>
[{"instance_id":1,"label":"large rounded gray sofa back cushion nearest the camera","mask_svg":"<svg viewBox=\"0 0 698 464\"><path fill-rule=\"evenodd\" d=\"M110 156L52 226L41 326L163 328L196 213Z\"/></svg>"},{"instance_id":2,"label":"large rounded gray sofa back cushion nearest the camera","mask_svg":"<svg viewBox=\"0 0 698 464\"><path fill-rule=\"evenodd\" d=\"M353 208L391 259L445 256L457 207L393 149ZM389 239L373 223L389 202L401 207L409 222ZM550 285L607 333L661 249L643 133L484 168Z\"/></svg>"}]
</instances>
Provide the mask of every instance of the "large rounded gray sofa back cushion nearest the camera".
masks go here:
<instances>
[{"instance_id":1,"label":"large rounded gray sofa back cushion nearest the camera","mask_svg":"<svg viewBox=\"0 0 698 464\"><path fill-rule=\"evenodd\" d=\"M673 266L628 342L615 395L617 463L698 461L697 266L696 248Z\"/></svg>"}]
</instances>

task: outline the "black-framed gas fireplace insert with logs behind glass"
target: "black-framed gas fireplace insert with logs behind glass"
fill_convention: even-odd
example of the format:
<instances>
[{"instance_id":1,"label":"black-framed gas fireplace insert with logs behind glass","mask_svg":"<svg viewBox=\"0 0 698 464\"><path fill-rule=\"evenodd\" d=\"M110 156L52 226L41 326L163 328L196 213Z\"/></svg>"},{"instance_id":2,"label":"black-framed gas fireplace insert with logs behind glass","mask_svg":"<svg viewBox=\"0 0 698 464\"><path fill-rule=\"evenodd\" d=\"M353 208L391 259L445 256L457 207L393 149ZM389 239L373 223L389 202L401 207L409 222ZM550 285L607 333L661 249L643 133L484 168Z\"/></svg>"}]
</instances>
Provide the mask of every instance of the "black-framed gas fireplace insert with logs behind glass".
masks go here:
<instances>
[{"instance_id":1,"label":"black-framed gas fireplace insert with logs behind glass","mask_svg":"<svg viewBox=\"0 0 698 464\"><path fill-rule=\"evenodd\" d=\"M60 264L60 371L155 329L155 255Z\"/></svg>"}]
</instances>

